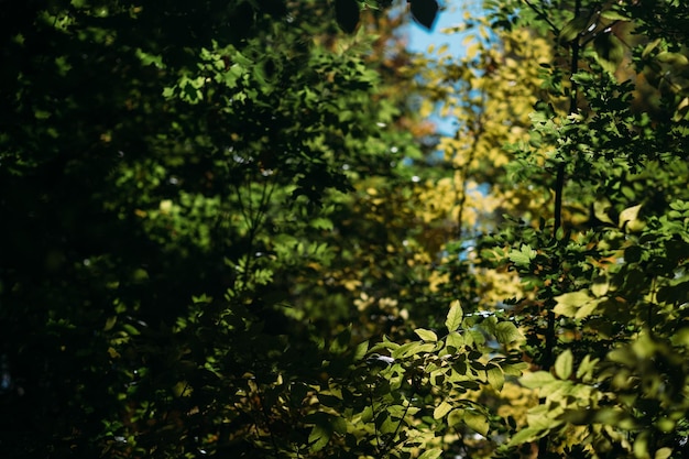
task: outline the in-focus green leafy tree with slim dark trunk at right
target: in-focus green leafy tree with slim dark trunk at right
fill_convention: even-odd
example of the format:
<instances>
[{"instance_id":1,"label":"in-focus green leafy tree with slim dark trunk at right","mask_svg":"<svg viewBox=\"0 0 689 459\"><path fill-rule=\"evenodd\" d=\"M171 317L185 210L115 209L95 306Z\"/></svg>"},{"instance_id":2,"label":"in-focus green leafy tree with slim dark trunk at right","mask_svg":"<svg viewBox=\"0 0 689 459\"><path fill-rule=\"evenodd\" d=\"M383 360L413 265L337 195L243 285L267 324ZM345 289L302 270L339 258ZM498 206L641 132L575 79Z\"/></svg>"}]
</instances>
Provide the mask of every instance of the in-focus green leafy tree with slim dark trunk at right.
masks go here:
<instances>
[{"instance_id":1,"label":"in-focus green leafy tree with slim dark trunk at right","mask_svg":"<svg viewBox=\"0 0 689 459\"><path fill-rule=\"evenodd\" d=\"M539 457L681 457L687 94L675 68L674 89L656 79L653 99L635 84L669 56L682 61L672 54L682 32L660 18L686 8L526 1L517 20L516 4L503 2L495 23L525 24L558 52L511 167L550 188L553 206L484 239L495 248L485 254L524 283L511 314L537 370L522 384L542 397L508 446L540 439Z\"/></svg>"}]
</instances>

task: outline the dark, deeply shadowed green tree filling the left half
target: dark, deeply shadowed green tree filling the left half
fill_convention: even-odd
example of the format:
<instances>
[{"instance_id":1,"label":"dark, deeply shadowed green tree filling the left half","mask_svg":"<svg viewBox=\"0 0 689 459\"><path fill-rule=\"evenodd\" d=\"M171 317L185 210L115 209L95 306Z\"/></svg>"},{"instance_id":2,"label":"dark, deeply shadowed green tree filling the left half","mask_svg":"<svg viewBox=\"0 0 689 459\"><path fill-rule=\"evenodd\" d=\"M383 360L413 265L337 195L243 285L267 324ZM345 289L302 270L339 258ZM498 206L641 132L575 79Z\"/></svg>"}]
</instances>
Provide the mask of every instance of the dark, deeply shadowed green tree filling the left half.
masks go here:
<instances>
[{"instance_id":1,"label":"dark, deeply shadowed green tree filling the left half","mask_svg":"<svg viewBox=\"0 0 689 459\"><path fill-rule=\"evenodd\" d=\"M332 256L324 200L390 168L378 124L397 109L372 109L359 39L329 48L329 8L267 3L28 3L3 21L7 455L302 441L275 442L285 419L254 403L321 371L281 287Z\"/></svg>"}]
</instances>

